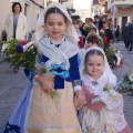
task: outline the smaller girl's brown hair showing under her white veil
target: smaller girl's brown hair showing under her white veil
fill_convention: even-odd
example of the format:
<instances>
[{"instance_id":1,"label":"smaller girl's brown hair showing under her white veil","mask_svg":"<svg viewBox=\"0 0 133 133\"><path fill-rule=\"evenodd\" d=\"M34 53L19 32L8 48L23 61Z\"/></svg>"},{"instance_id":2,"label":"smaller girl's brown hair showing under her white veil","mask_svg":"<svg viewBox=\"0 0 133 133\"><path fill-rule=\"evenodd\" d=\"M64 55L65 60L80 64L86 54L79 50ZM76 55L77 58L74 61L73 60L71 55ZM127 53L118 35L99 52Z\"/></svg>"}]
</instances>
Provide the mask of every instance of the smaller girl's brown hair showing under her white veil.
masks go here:
<instances>
[{"instance_id":1,"label":"smaller girl's brown hair showing under her white veil","mask_svg":"<svg viewBox=\"0 0 133 133\"><path fill-rule=\"evenodd\" d=\"M94 49L94 50L90 50L89 52L86 52L84 63L86 63L90 55L101 55L104 60L104 54L100 50Z\"/></svg>"}]
</instances>

